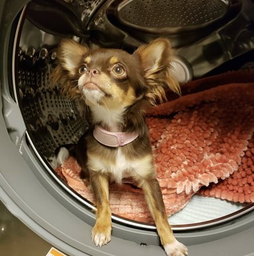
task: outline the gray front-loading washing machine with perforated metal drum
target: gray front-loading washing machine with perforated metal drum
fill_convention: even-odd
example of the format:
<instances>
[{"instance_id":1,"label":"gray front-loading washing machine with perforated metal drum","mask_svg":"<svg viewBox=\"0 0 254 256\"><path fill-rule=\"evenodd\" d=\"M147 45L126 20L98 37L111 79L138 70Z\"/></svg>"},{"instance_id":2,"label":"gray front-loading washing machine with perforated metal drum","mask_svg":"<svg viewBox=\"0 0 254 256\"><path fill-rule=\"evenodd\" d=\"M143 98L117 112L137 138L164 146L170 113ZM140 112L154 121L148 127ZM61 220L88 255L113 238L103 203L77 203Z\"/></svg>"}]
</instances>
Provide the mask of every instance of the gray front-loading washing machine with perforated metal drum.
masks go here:
<instances>
[{"instance_id":1,"label":"gray front-loading washing machine with perforated metal drum","mask_svg":"<svg viewBox=\"0 0 254 256\"><path fill-rule=\"evenodd\" d=\"M51 168L56 147L77 142L87 129L83 106L50 86L56 47L68 37L131 52L156 37L169 37L175 75L185 82L253 65L253 14L252 0L1 0L3 204L66 255L165 255L154 225L117 215L112 240L96 247L93 204ZM192 212L190 220L184 208L171 219L189 255L254 255L254 205L199 200L188 207L215 216L198 219Z\"/></svg>"}]
</instances>

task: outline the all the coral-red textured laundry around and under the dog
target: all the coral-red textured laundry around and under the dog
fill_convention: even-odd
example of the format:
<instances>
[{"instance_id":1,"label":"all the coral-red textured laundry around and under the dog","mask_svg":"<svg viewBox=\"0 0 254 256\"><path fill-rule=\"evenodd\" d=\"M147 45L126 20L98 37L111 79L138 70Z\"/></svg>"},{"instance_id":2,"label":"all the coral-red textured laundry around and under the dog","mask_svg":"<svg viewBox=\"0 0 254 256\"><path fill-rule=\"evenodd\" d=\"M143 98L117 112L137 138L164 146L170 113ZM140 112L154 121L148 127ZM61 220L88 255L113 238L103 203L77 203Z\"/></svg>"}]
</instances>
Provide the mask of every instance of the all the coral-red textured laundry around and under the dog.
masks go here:
<instances>
[{"instance_id":1,"label":"all the coral-red textured laundry around and under the dog","mask_svg":"<svg viewBox=\"0 0 254 256\"><path fill-rule=\"evenodd\" d=\"M253 81L186 94L150 109L147 122L168 215L196 193L254 202ZM93 202L73 158L56 171ZM116 215L152 222L142 191L129 184L110 186L110 205Z\"/></svg>"}]
</instances>

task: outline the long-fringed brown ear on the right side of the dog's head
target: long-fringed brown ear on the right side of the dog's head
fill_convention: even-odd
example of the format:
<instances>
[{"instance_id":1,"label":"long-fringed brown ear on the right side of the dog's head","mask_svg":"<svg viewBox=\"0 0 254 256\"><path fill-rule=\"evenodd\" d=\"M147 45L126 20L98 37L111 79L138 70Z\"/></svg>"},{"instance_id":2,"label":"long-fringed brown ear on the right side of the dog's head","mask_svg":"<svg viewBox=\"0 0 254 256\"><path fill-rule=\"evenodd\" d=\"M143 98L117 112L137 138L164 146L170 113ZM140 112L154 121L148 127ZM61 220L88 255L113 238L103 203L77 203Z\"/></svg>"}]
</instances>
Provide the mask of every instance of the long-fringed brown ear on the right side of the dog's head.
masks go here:
<instances>
[{"instance_id":1,"label":"long-fringed brown ear on the right side of the dog's head","mask_svg":"<svg viewBox=\"0 0 254 256\"><path fill-rule=\"evenodd\" d=\"M141 60L144 78L150 89L147 96L152 104L166 98L164 88L180 94L179 84L170 74L173 53L168 39L155 39L148 45L141 45L133 54Z\"/></svg>"}]
</instances>

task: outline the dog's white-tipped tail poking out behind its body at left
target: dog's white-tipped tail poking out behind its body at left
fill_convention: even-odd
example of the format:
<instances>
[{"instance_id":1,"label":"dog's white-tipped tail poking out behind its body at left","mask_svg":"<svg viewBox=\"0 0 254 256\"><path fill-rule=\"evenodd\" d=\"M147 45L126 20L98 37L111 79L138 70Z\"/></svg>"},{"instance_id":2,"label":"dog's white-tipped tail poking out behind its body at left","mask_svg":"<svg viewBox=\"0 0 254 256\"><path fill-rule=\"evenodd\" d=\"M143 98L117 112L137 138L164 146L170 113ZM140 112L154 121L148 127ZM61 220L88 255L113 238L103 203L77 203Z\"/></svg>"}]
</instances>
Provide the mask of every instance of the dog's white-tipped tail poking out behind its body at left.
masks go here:
<instances>
[{"instance_id":1,"label":"dog's white-tipped tail poking out behind its body at left","mask_svg":"<svg viewBox=\"0 0 254 256\"><path fill-rule=\"evenodd\" d=\"M75 155L75 144L66 144L58 147L55 150L55 155L49 158L49 164L56 169L58 166L64 164L64 161L69 157Z\"/></svg>"}]
</instances>

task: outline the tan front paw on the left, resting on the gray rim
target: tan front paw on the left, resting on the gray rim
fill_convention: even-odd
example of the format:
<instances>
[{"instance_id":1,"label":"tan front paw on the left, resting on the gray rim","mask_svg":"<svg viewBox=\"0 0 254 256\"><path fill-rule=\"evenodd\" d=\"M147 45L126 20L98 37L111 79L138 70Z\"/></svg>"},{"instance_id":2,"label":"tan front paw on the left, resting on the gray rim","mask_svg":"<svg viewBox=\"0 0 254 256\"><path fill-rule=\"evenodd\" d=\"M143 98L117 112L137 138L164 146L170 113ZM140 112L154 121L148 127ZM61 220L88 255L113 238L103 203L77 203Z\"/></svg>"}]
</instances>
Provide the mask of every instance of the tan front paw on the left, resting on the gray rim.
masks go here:
<instances>
[{"instance_id":1,"label":"tan front paw on the left, resting on the gray rim","mask_svg":"<svg viewBox=\"0 0 254 256\"><path fill-rule=\"evenodd\" d=\"M111 225L96 223L91 232L91 238L96 246L102 247L107 244L111 240Z\"/></svg>"}]
</instances>

